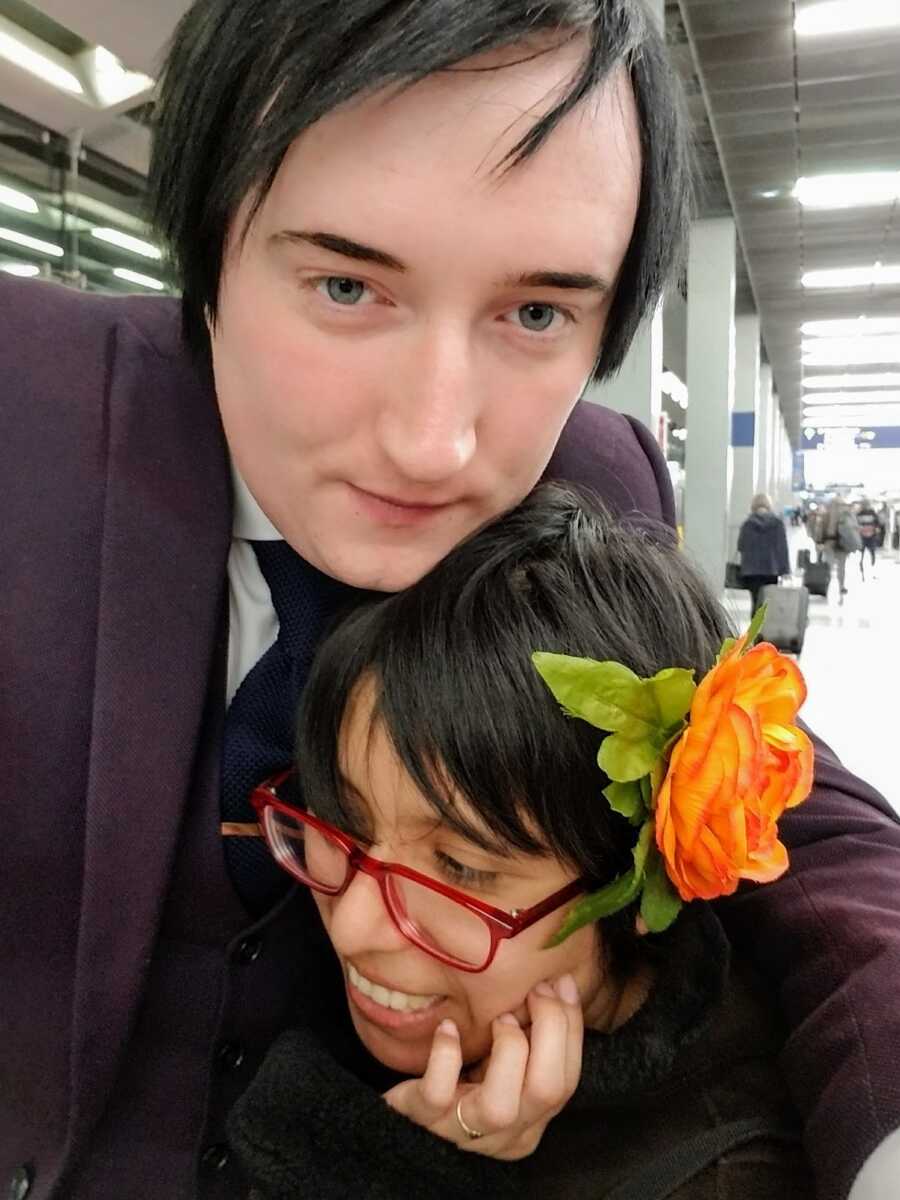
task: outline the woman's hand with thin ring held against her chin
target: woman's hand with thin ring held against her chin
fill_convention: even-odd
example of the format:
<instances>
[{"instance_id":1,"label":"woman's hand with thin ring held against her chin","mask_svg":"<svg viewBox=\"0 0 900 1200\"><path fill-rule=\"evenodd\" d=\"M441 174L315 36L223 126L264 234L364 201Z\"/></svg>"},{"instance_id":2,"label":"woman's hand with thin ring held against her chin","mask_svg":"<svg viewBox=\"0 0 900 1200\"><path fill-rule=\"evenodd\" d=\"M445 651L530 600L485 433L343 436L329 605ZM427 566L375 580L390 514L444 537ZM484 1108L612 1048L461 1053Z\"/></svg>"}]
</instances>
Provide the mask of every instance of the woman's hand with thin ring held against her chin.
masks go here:
<instances>
[{"instance_id":1,"label":"woman's hand with thin ring held against her chin","mask_svg":"<svg viewBox=\"0 0 900 1200\"><path fill-rule=\"evenodd\" d=\"M578 1085L584 1024L571 976L556 988L538 984L527 1004L528 1033L511 1013L493 1022L493 1046L476 1069L478 1082L461 1079L460 1033L452 1021L442 1021L422 1078L397 1084L385 1100L461 1150L502 1159L530 1154Z\"/></svg>"}]
</instances>

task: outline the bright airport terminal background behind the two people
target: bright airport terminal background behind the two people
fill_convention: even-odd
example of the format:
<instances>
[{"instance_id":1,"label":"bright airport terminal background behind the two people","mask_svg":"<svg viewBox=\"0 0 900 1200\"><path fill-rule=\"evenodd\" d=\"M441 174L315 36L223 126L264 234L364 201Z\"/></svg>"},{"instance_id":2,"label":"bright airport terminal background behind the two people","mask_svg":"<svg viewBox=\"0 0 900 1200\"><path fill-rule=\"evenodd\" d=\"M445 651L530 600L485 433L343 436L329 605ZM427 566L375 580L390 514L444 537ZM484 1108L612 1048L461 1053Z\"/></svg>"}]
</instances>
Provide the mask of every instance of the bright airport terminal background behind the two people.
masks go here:
<instances>
[{"instance_id":1,"label":"bright airport terminal background behind the two people","mask_svg":"<svg viewBox=\"0 0 900 1200\"><path fill-rule=\"evenodd\" d=\"M186 7L0 0L0 269L174 290L142 202L156 72ZM804 560L829 557L835 505L871 506L865 564L851 550L846 590L832 569L809 595L805 716L900 805L900 2L647 8L684 85L698 211L682 278L587 398L649 426L685 550L718 586L730 572L738 623L755 496L785 526L793 589Z\"/></svg>"}]
</instances>

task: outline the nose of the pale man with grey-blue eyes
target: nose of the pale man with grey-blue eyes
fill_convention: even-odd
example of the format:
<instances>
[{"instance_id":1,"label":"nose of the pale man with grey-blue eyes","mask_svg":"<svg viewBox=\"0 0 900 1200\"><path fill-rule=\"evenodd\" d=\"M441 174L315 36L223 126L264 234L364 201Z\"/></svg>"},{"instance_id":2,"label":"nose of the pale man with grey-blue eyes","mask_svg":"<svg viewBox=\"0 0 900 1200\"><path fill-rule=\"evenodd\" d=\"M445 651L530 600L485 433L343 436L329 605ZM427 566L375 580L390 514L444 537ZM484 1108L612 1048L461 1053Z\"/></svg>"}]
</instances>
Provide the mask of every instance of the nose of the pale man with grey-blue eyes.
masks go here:
<instances>
[{"instance_id":1,"label":"nose of the pale man with grey-blue eyes","mask_svg":"<svg viewBox=\"0 0 900 1200\"><path fill-rule=\"evenodd\" d=\"M388 382L378 440L412 484L451 481L474 458L480 418L475 348L449 325L421 332Z\"/></svg>"}]
</instances>

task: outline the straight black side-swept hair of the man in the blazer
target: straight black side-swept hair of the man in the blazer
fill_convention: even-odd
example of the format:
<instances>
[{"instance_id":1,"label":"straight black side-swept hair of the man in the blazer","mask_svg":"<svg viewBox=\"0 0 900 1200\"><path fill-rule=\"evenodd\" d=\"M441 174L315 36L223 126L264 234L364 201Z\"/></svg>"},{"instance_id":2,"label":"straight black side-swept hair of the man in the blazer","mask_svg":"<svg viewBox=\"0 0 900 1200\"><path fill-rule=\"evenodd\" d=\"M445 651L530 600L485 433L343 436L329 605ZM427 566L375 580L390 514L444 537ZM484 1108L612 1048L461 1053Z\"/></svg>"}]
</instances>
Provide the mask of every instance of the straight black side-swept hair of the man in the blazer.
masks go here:
<instances>
[{"instance_id":1,"label":"straight black side-swept hair of the man in the blazer","mask_svg":"<svg viewBox=\"0 0 900 1200\"><path fill-rule=\"evenodd\" d=\"M506 166L534 154L616 66L635 92L641 196L595 378L616 372L683 262L692 212L689 122L641 0L197 0L163 65L149 184L150 220L180 278L192 349L209 356L206 322L216 322L239 208L252 198L252 221L304 130L354 97L412 85L486 50L521 46L527 56L540 35L584 36L588 49L568 94Z\"/></svg>"}]
</instances>

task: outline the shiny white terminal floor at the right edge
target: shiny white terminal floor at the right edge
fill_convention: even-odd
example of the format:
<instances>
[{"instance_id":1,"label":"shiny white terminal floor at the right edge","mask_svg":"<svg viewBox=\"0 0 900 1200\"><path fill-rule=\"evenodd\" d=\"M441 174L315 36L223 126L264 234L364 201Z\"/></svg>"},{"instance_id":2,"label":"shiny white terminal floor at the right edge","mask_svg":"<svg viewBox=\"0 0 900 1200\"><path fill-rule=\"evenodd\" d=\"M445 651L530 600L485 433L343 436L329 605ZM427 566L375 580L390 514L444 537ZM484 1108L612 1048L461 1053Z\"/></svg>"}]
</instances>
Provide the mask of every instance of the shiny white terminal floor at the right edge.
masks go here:
<instances>
[{"instance_id":1,"label":"shiny white terminal floor at the right edge","mask_svg":"<svg viewBox=\"0 0 900 1200\"><path fill-rule=\"evenodd\" d=\"M809 545L791 530L792 562ZM847 560L847 595L838 604L832 581L827 600L810 598L800 666L809 685L803 716L847 767L874 784L900 811L900 556L882 551L875 577L859 557ZM750 613L746 593L727 592L738 628Z\"/></svg>"}]
</instances>

